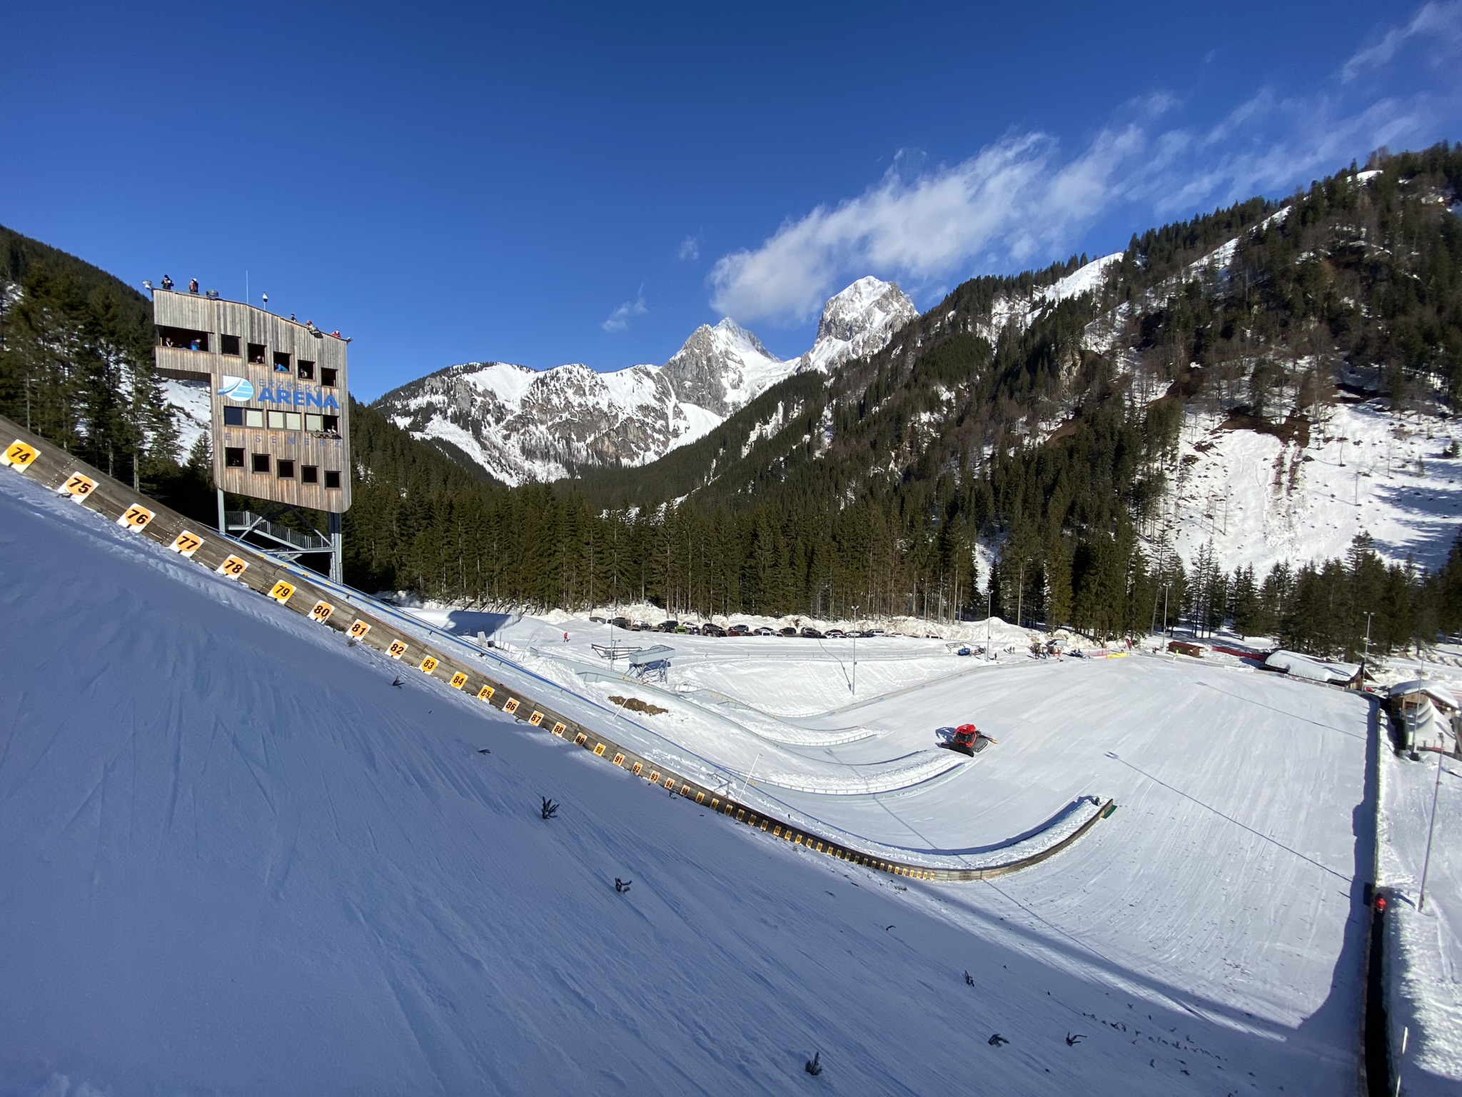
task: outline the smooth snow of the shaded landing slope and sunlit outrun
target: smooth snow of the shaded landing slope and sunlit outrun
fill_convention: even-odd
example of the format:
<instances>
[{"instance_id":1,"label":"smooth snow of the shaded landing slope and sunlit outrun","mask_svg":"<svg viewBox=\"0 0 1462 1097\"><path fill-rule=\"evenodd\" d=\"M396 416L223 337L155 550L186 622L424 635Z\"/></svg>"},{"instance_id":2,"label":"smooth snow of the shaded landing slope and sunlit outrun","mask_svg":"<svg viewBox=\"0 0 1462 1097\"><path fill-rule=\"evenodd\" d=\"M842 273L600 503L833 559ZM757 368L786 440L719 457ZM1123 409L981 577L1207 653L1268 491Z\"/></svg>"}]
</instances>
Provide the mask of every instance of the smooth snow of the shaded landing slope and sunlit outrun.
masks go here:
<instances>
[{"instance_id":1,"label":"smooth snow of the shaded landing slope and sunlit outrun","mask_svg":"<svg viewBox=\"0 0 1462 1097\"><path fill-rule=\"evenodd\" d=\"M1352 1084L1351 695L1127 658L827 714L879 733L808 750L827 772L956 715L999 730L952 780L803 797L876 838L974 851L1094 778L1118 797L1038 869L928 885L731 826L442 683L392 689L401 664L4 470L0 568L23 641L0 674L0 1091ZM781 660L746 682L795 693Z\"/></svg>"}]
</instances>

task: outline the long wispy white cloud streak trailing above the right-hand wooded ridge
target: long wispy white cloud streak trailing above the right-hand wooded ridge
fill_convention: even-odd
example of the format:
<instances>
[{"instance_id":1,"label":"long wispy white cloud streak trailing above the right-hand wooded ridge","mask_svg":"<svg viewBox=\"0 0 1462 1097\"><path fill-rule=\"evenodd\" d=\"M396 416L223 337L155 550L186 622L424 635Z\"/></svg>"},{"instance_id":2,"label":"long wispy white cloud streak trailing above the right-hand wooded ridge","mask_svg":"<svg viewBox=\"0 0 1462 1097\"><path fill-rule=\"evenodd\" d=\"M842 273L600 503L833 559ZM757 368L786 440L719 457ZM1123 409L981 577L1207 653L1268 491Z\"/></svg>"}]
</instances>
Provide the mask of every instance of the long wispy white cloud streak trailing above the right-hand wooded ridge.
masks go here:
<instances>
[{"instance_id":1,"label":"long wispy white cloud streak trailing above the right-hand wooded ridge","mask_svg":"<svg viewBox=\"0 0 1462 1097\"><path fill-rule=\"evenodd\" d=\"M1431 86L1417 70L1421 85L1412 80L1406 95L1357 101L1347 91L1361 67L1386 64L1402 41L1423 35L1436 56L1462 44L1462 0L1420 9L1351 57L1326 89L1285 98L1265 88L1206 129L1162 126L1180 104L1155 94L1126 104L1075 154L1039 132L1013 132L965 161L917 171L906 170L917 157L901 154L857 197L817 206L760 246L718 259L711 303L743 323L800 323L861 275L921 294L968 278L977 262L990 269L1064 257L1082 231L1121 206L1136 208L1136 224L1184 216L1303 186L1380 145L1430 143L1462 116L1462 85L1449 66L1430 66Z\"/></svg>"}]
</instances>

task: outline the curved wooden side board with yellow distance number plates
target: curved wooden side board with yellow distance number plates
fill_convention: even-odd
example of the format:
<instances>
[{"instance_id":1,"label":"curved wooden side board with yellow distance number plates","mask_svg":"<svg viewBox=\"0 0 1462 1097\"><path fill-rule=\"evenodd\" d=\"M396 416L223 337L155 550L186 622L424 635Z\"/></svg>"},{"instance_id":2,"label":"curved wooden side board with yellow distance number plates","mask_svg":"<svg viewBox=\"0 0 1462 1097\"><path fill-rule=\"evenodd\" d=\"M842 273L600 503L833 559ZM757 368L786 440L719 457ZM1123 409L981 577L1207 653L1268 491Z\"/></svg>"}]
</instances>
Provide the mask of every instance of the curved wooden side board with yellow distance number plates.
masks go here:
<instances>
[{"instance_id":1,"label":"curved wooden side board with yellow distance number plates","mask_svg":"<svg viewBox=\"0 0 1462 1097\"><path fill-rule=\"evenodd\" d=\"M79 505L96 515L124 525L203 568L219 572L265 597L270 597L287 608L310 617L326 627L345 632L355 642L376 648L393 660L409 664L420 673L437 679L452 689L471 692L493 708L573 742L589 753L604 758L616 766L629 769L636 777L645 778L656 787L705 804L712 812L734 819L738 823L766 831L784 841L806 845L810 850L838 860L912 879L993 879L1028 869L1054 857L1116 810L1116 802L1108 799L1101 804L1099 810L1092 813L1079 828L1060 841L1037 853L981 867L937 867L860 851L825 834L817 834L806 826L795 826L784 819L768 815L765 807L727 797L719 790L709 788L684 774L620 746L598 731L554 711L553 706L534 701L522 690L512 689L488 677L482 673L481 667L465 663L444 649L421 641L420 636L392 625L389 617L371 614L361 610L358 604L351 607L349 613L336 613L332 598L335 601L341 598L325 584L314 584L303 578L298 570L291 570L278 560L249 546L225 538L216 531L161 506L148 496L113 480L105 472L79 461L3 415L0 415L0 440L6 445L6 449L0 453L0 462L42 487L72 494ZM358 603L360 598L352 595L352 601Z\"/></svg>"}]
</instances>

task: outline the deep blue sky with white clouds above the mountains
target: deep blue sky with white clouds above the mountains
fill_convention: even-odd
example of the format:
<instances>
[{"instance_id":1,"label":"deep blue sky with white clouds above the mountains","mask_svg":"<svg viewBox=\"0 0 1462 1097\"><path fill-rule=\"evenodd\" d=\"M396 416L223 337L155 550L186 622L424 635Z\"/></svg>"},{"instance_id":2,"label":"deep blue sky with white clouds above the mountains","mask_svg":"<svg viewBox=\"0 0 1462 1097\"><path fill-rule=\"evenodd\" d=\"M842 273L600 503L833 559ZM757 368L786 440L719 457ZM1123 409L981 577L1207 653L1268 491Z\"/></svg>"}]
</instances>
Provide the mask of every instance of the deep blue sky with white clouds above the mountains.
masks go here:
<instances>
[{"instance_id":1,"label":"deep blue sky with white clouds above the mountains","mask_svg":"<svg viewBox=\"0 0 1462 1097\"><path fill-rule=\"evenodd\" d=\"M532 10L525 10L532 7ZM965 278L1462 139L1462 0L25 4L0 224L443 366L789 357Z\"/></svg>"}]
</instances>

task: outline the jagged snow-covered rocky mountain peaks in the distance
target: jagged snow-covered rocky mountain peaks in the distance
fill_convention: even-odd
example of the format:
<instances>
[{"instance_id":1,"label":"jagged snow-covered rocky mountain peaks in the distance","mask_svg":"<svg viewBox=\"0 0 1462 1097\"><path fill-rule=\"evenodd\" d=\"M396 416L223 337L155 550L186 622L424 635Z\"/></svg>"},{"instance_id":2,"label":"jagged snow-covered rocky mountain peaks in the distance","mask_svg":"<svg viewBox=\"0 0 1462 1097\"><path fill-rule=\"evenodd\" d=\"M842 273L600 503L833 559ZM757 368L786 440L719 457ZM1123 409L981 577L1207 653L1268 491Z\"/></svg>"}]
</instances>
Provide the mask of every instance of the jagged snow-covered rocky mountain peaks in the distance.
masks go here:
<instances>
[{"instance_id":1,"label":"jagged snow-covered rocky mountain peaks in the distance","mask_svg":"<svg viewBox=\"0 0 1462 1097\"><path fill-rule=\"evenodd\" d=\"M664 366L595 373L507 363L450 366L382 396L396 426L447 442L499 480L642 465L694 442L776 382L882 350L915 316L892 282L861 278L827 301L813 348L782 361L731 319L702 325Z\"/></svg>"}]
</instances>

